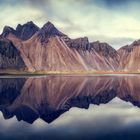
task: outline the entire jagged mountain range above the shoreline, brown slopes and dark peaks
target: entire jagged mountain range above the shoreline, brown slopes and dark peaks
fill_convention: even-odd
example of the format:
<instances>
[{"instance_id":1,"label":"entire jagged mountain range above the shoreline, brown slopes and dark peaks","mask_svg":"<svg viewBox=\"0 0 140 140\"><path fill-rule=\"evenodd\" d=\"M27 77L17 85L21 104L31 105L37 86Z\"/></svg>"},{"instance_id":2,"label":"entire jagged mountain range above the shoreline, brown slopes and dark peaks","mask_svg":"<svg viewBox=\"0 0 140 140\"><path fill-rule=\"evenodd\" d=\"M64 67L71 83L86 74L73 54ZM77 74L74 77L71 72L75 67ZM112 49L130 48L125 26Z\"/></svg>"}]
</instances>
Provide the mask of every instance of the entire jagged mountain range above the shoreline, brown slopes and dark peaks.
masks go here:
<instances>
[{"instance_id":1,"label":"entire jagged mountain range above the shoreline, brown slopes and dark peaks","mask_svg":"<svg viewBox=\"0 0 140 140\"><path fill-rule=\"evenodd\" d=\"M71 39L51 22L5 26L0 35L0 73L139 72L140 40L115 50L108 43Z\"/></svg>"}]
</instances>

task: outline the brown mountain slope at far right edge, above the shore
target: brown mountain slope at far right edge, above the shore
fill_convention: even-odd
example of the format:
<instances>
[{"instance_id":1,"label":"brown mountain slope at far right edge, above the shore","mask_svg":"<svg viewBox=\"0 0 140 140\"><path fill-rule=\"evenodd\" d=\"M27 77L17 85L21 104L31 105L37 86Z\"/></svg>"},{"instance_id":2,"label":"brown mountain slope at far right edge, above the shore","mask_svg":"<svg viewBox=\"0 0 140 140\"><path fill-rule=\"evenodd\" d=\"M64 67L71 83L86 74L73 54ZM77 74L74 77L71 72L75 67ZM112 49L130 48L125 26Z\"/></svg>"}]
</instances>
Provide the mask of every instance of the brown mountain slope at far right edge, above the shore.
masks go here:
<instances>
[{"instance_id":1,"label":"brown mountain slope at far right edge, above the shore","mask_svg":"<svg viewBox=\"0 0 140 140\"><path fill-rule=\"evenodd\" d=\"M120 56L120 69L122 71L140 71L140 40L120 48L118 53Z\"/></svg>"}]
</instances>

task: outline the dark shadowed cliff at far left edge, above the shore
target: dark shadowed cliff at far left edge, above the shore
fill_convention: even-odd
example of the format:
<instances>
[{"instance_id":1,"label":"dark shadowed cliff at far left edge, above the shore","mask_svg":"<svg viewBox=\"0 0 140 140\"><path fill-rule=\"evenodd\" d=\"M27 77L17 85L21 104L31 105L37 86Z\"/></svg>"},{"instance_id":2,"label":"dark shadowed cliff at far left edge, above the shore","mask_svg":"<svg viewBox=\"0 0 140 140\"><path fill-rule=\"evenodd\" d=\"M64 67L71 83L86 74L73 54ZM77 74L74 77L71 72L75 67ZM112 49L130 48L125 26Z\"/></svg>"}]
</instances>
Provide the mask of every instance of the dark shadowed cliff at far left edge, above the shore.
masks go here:
<instances>
[{"instance_id":1,"label":"dark shadowed cliff at far left edge, above the shore","mask_svg":"<svg viewBox=\"0 0 140 140\"><path fill-rule=\"evenodd\" d=\"M8 39L0 39L0 69L24 70L25 64L16 49Z\"/></svg>"}]
</instances>

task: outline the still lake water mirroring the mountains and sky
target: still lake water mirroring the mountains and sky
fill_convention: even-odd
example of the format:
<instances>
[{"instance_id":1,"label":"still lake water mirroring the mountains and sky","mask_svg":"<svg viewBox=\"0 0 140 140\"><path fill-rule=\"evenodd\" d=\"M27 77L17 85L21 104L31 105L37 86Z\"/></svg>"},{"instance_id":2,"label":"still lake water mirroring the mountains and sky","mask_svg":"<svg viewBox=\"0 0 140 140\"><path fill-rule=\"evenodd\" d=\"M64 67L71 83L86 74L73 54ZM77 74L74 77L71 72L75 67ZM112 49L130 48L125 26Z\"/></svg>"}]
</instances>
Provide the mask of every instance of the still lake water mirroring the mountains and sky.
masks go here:
<instances>
[{"instance_id":1,"label":"still lake water mirroring the mountains and sky","mask_svg":"<svg viewBox=\"0 0 140 140\"><path fill-rule=\"evenodd\" d=\"M140 139L140 76L0 78L0 140Z\"/></svg>"}]
</instances>

